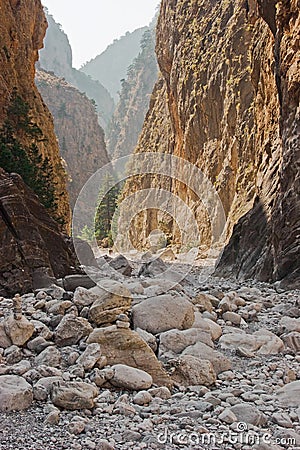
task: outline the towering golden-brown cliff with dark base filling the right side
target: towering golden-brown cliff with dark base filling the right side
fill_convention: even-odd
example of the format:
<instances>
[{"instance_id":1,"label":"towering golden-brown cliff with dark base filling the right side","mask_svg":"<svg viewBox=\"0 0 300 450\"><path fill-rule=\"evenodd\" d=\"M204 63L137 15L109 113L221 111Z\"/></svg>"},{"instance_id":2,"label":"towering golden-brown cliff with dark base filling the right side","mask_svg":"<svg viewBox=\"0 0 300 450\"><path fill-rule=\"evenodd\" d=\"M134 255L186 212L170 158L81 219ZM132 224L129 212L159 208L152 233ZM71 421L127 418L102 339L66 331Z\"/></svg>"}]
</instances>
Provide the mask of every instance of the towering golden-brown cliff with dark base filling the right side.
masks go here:
<instances>
[{"instance_id":1,"label":"towering golden-brown cliff with dark base filling the right side","mask_svg":"<svg viewBox=\"0 0 300 450\"><path fill-rule=\"evenodd\" d=\"M136 149L199 167L222 200L232 235L220 273L269 281L300 264L299 1L276 3L162 1L161 75ZM166 185L140 176L125 193ZM193 210L208 243L201 202L176 180L169 189ZM140 215L136 242L158 222L153 210ZM174 221L168 228L179 240Z\"/></svg>"}]
</instances>

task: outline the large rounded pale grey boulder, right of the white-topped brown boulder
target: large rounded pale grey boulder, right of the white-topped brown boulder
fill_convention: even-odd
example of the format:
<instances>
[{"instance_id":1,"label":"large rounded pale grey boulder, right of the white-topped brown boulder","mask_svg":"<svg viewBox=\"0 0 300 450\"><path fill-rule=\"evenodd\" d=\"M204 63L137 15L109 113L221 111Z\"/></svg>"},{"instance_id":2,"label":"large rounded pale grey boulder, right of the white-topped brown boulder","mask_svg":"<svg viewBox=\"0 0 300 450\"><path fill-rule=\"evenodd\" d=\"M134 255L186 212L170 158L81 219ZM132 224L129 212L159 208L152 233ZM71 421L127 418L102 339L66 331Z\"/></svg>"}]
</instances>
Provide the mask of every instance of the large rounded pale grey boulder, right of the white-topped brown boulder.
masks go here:
<instances>
[{"instance_id":1,"label":"large rounded pale grey boulder, right of the white-topped brown boulder","mask_svg":"<svg viewBox=\"0 0 300 450\"><path fill-rule=\"evenodd\" d=\"M144 300L132 308L134 328L157 334L177 328L191 328L194 322L193 305L179 295L159 295Z\"/></svg>"}]
</instances>

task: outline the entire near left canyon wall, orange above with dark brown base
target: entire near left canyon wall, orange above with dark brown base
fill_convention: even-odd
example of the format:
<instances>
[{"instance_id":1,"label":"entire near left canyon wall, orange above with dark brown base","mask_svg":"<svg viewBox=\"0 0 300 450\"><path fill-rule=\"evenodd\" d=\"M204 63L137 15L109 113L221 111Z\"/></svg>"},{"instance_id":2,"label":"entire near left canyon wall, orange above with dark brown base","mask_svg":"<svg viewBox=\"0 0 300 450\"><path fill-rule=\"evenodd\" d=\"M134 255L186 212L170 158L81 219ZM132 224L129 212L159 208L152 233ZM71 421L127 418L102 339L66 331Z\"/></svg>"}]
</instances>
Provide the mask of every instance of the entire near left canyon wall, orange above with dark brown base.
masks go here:
<instances>
[{"instance_id":1,"label":"entire near left canyon wall, orange above with dark brown base","mask_svg":"<svg viewBox=\"0 0 300 450\"><path fill-rule=\"evenodd\" d=\"M61 231L70 229L66 172L52 116L34 83L46 26L40 0L0 0L1 296L45 287L78 270L70 238ZM41 167L47 172L37 171ZM29 184L36 175L36 191L7 173L15 172L11 168ZM56 206L46 209L41 202L52 192Z\"/></svg>"}]
</instances>

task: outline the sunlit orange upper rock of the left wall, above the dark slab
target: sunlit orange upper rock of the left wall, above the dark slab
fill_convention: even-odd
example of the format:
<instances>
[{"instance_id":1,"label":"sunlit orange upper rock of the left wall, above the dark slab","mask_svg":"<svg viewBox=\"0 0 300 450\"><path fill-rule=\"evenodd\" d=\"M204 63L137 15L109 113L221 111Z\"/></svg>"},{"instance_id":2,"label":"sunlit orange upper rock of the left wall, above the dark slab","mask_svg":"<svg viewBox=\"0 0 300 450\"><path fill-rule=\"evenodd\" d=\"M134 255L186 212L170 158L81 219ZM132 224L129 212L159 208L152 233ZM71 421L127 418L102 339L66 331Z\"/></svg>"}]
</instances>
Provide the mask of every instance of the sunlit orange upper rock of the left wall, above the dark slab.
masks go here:
<instances>
[{"instance_id":1,"label":"sunlit orange upper rock of the left wall, above the dark slab","mask_svg":"<svg viewBox=\"0 0 300 450\"><path fill-rule=\"evenodd\" d=\"M66 191L66 176L54 134L53 120L34 84L35 62L43 45L47 23L39 0L20 2L0 1L0 128L6 121L7 108L13 95L30 106L31 120L41 130L43 140L38 149L43 158L49 158L53 167L51 184L55 190L57 208L55 215L69 229L70 209ZM32 137L21 133L19 141L24 146L32 144Z\"/></svg>"}]
</instances>

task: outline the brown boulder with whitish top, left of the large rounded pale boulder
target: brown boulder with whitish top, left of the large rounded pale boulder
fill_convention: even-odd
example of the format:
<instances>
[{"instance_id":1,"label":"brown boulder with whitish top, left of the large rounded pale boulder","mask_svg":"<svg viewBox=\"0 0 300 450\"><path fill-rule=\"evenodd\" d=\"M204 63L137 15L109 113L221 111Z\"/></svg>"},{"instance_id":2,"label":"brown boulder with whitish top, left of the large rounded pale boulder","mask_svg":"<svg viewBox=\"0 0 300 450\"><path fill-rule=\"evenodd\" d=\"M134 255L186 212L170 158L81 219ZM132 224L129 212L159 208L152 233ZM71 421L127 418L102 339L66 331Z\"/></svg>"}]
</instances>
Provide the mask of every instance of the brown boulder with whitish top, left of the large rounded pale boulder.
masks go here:
<instances>
[{"instance_id":1,"label":"brown boulder with whitish top, left of the large rounded pale boulder","mask_svg":"<svg viewBox=\"0 0 300 450\"><path fill-rule=\"evenodd\" d=\"M89 321L96 325L115 322L131 306L129 290L117 281L102 280L90 292L97 296L89 311Z\"/></svg>"}]
</instances>

